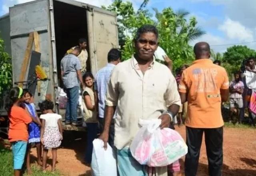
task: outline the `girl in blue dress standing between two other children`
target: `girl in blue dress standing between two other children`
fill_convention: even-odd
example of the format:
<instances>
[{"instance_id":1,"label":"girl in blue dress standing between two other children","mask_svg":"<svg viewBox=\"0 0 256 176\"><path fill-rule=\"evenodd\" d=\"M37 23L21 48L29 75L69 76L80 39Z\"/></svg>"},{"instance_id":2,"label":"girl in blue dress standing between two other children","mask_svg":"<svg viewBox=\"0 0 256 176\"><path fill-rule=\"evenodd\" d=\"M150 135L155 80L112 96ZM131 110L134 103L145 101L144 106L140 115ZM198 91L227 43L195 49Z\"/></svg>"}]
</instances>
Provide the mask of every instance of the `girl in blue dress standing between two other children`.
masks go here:
<instances>
[{"instance_id":1,"label":"girl in blue dress standing between two other children","mask_svg":"<svg viewBox=\"0 0 256 176\"><path fill-rule=\"evenodd\" d=\"M37 114L36 114L36 108L34 103L30 103L32 94L30 93L30 91L28 89L24 89L23 90L23 104L22 106L24 107L24 109L30 114L30 116L33 119L33 122L31 122L28 125L28 133L29 133L29 137L28 137L28 154L27 154L27 170L28 173L31 173L31 168L30 168L30 150L31 150L31 146L33 143L36 144L36 152L37 152L37 163L42 166L42 161L41 161L41 156L42 156L42 147L41 147L41 143L40 143L40 126L41 126L41 122L40 119L38 118Z\"/></svg>"}]
</instances>

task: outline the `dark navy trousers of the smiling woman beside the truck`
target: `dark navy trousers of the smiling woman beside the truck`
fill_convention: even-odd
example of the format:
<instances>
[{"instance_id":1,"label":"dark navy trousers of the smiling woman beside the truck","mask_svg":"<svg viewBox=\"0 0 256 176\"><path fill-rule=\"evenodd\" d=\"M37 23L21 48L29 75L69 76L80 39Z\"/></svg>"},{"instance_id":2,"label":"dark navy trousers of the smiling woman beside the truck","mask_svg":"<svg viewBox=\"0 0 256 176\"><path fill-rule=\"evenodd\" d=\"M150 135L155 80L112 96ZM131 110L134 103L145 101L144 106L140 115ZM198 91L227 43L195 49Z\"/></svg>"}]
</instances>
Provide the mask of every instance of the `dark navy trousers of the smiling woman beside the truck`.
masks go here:
<instances>
[{"instance_id":1,"label":"dark navy trousers of the smiling woman beside the truck","mask_svg":"<svg viewBox=\"0 0 256 176\"><path fill-rule=\"evenodd\" d=\"M93 140L97 138L98 133L98 123L86 123L87 134L86 134L86 151L84 161L87 164L92 162L92 149L93 149Z\"/></svg>"}]
</instances>

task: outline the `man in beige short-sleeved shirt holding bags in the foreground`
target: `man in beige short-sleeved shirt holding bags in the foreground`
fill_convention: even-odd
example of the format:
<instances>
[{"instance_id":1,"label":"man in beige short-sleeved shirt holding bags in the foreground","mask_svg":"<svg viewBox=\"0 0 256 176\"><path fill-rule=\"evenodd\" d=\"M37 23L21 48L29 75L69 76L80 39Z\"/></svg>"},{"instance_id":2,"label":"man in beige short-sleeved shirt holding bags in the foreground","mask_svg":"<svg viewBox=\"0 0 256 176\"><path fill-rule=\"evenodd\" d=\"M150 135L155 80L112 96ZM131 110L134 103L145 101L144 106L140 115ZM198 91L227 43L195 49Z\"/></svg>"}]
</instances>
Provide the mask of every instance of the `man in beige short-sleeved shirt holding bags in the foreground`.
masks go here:
<instances>
[{"instance_id":1,"label":"man in beige short-sleeved shirt holding bags in the foreground","mask_svg":"<svg viewBox=\"0 0 256 176\"><path fill-rule=\"evenodd\" d=\"M139 119L160 118L161 128L168 128L181 105L176 80L168 67L153 59L158 46L155 26L144 25L134 40L136 53L118 64L110 77L105 100L105 126L100 139L108 142L109 127L116 110L114 146L117 148L120 176L144 176L129 146L140 129ZM164 113L168 110L166 113ZM167 167L154 168L157 176L167 176Z\"/></svg>"}]
</instances>

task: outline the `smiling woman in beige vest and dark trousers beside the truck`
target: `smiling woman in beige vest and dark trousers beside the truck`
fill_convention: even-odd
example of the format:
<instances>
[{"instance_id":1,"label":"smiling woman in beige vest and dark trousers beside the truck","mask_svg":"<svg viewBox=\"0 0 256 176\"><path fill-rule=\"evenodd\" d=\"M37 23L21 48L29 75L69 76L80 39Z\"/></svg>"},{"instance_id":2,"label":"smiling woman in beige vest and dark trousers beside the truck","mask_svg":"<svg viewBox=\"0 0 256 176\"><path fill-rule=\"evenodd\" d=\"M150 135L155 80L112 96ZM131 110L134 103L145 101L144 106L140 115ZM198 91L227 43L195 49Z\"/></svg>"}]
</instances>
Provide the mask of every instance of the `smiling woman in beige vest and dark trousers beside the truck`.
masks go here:
<instances>
[{"instance_id":1,"label":"smiling woman in beige vest and dark trousers beside the truck","mask_svg":"<svg viewBox=\"0 0 256 176\"><path fill-rule=\"evenodd\" d=\"M85 163L90 164L92 161L92 141L97 137L98 128L98 108L97 108L97 96L93 88L94 77L91 73L86 72L83 76L83 81L86 88L83 92L84 102L82 102L84 107L84 121L87 126L87 147L85 154Z\"/></svg>"}]
</instances>

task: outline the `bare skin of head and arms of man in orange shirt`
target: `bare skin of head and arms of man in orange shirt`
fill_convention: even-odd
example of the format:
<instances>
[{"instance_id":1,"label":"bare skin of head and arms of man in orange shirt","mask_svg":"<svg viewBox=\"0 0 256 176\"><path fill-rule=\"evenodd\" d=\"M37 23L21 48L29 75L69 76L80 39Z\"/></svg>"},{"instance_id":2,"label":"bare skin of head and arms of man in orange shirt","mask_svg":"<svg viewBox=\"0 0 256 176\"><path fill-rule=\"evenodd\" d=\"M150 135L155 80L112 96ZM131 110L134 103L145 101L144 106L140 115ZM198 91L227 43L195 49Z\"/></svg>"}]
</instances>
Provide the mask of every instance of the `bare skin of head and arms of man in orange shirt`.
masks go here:
<instances>
[{"instance_id":1,"label":"bare skin of head and arms of man in orange shirt","mask_svg":"<svg viewBox=\"0 0 256 176\"><path fill-rule=\"evenodd\" d=\"M198 59L209 59L211 56L210 46L206 42L199 42L194 46L194 53L196 55L196 60ZM228 101L229 89L220 89L221 101ZM187 101L188 94L180 92L181 103Z\"/></svg>"}]
</instances>

